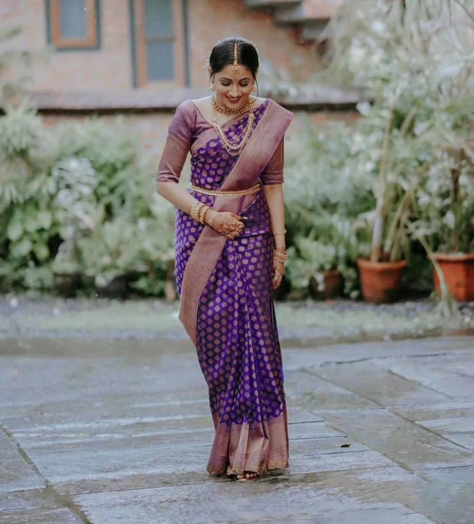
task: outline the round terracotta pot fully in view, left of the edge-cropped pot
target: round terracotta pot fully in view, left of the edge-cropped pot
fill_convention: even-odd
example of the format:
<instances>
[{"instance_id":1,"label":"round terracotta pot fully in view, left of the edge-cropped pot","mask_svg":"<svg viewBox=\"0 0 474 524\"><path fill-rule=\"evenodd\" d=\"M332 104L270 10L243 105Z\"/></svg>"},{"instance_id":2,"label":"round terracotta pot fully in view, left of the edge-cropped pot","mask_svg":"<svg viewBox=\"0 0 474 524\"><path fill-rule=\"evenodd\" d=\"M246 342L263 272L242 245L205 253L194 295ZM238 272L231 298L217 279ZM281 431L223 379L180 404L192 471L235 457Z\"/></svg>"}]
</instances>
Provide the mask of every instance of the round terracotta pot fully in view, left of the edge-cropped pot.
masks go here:
<instances>
[{"instance_id":1,"label":"round terracotta pot fully in view, left of the edge-cropped pot","mask_svg":"<svg viewBox=\"0 0 474 524\"><path fill-rule=\"evenodd\" d=\"M404 260L397 262L372 262L363 258L357 260L360 272L362 296L367 302L382 304L397 298L400 277L406 266Z\"/></svg>"}]
</instances>

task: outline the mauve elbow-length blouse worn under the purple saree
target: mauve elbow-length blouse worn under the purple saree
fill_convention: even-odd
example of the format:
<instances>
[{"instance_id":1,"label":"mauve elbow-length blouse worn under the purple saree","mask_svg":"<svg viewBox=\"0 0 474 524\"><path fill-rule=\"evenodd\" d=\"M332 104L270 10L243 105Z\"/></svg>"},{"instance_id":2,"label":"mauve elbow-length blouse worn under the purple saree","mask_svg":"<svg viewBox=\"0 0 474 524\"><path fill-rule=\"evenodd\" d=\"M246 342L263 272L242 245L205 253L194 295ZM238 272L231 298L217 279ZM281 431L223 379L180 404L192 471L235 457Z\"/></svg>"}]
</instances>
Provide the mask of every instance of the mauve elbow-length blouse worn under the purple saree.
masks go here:
<instances>
[{"instance_id":1,"label":"mauve elbow-length blouse worn under the purple saree","mask_svg":"<svg viewBox=\"0 0 474 524\"><path fill-rule=\"evenodd\" d=\"M259 111L260 108L261 111L264 111L267 105L268 101L263 102L254 112ZM177 107L158 164L156 177L158 182L179 182L186 156L192 144L201 133L209 128L212 128L212 125L207 122L191 100ZM267 167L260 174L260 180L263 185L283 183L283 139Z\"/></svg>"}]
</instances>

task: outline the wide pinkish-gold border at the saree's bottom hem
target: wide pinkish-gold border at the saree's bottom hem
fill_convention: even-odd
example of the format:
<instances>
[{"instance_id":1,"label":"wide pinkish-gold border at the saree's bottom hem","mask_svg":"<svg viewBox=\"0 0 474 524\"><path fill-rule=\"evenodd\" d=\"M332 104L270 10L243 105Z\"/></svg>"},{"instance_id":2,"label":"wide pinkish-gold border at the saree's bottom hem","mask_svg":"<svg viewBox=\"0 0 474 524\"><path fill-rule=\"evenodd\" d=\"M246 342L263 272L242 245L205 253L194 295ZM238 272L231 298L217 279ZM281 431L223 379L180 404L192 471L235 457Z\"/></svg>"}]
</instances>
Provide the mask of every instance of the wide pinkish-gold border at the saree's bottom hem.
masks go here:
<instances>
[{"instance_id":1,"label":"wide pinkish-gold border at the saree's bottom hem","mask_svg":"<svg viewBox=\"0 0 474 524\"><path fill-rule=\"evenodd\" d=\"M210 475L242 475L246 471L267 473L288 467L288 421L286 410L264 422L219 423L207 463Z\"/></svg>"}]
</instances>

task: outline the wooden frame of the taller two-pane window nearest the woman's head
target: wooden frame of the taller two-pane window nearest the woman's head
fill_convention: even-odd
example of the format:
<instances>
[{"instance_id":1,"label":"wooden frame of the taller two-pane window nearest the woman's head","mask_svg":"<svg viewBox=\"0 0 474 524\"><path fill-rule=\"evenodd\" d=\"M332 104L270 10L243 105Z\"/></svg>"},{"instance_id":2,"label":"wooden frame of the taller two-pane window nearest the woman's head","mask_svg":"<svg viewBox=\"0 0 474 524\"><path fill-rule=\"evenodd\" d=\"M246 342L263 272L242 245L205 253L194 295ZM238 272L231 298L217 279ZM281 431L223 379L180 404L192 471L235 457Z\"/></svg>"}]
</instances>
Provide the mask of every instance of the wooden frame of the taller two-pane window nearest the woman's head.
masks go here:
<instances>
[{"instance_id":1,"label":"wooden frame of the taller two-pane window nearest the woman's head","mask_svg":"<svg viewBox=\"0 0 474 524\"><path fill-rule=\"evenodd\" d=\"M130 0L131 19L133 20L133 61L134 84L137 88L149 86L175 87L186 83L186 58L184 41L183 1L171 0L173 34L147 37L145 35L144 13L146 0ZM172 42L173 72L172 80L149 80L147 77L147 42Z\"/></svg>"}]
</instances>

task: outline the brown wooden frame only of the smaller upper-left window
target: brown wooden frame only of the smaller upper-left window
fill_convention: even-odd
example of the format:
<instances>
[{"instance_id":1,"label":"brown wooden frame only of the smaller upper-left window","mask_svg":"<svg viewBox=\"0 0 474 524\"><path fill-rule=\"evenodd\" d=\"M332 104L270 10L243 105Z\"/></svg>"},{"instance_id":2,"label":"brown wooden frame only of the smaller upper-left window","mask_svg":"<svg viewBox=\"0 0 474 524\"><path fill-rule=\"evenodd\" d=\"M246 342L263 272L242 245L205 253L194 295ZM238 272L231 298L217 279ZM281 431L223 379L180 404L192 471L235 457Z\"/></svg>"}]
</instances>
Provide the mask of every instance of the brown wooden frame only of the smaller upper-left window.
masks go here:
<instances>
[{"instance_id":1,"label":"brown wooden frame only of the smaller upper-left window","mask_svg":"<svg viewBox=\"0 0 474 524\"><path fill-rule=\"evenodd\" d=\"M64 38L61 36L60 0L47 0L49 41L58 50L98 49L100 47L100 4L99 0L85 0L85 38Z\"/></svg>"}]
</instances>

